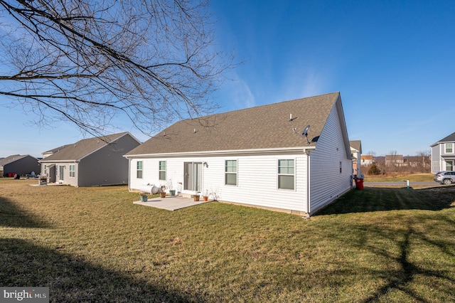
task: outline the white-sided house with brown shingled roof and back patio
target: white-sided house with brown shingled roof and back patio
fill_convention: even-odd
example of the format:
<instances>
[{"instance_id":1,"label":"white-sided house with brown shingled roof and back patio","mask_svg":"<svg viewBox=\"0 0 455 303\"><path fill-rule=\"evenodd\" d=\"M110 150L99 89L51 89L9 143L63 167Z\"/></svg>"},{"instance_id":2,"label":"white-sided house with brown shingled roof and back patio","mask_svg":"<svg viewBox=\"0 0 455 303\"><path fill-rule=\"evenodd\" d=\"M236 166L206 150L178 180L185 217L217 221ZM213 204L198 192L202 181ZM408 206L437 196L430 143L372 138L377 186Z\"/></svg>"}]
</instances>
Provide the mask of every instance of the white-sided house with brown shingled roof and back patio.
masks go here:
<instances>
[{"instance_id":1,"label":"white-sided house with brown shingled roof and back patio","mask_svg":"<svg viewBox=\"0 0 455 303\"><path fill-rule=\"evenodd\" d=\"M132 191L172 183L296 214L312 215L352 186L339 92L182 120L125 156Z\"/></svg>"}]
</instances>

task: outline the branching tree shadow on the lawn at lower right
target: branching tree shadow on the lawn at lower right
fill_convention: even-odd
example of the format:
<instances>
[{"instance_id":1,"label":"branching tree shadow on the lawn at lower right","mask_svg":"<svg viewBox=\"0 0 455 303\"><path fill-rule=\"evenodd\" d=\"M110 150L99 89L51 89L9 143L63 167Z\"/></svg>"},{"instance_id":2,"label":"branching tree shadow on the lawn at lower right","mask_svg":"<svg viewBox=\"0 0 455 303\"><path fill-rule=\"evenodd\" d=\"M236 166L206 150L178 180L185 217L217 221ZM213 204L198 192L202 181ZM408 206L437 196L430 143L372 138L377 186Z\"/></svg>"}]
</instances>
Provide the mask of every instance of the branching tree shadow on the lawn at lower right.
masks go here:
<instances>
[{"instance_id":1,"label":"branching tree shadow on the lawn at lower right","mask_svg":"<svg viewBox=\"0 0 455 303\"><path fill-rule=\"evenodd\" d=\"M432 219L428 217L424 220ZM351 232L378 240L363 239L354 241L350 243L351 245L362 250L369 250L376 255L378 260L385 260L389 265L398 265L385 266L382 270L372 272L384 283L363 302L378 302L384 299L389 301L390 295L393 297L397 294L406 294L407 299L413 302L432 301L431 299L427 301L427 298L424 297L427 292L436 295L435 297L439 297L443 302L454 299L454 267L447 267L444 265L444 261L437 265L435 260L423 260L422 262L415 259L416 243L424 245L430 250L439 251L440 256L443 257L441 260L453 259L455 254L452 250L451 239L434 241L431 232L419 231L420 220L422 218L401 220L398 229L378 228L377 225L350 225ZM451 232L453 231L448 231L448 233ZM383 245L382 240L387 240L392 245ZM397 248L397 251L394 248ZM417 285L422 285L423 289L419 289ZM392 294L393 292L395 294Z\"/></svg>"}]
</instances>

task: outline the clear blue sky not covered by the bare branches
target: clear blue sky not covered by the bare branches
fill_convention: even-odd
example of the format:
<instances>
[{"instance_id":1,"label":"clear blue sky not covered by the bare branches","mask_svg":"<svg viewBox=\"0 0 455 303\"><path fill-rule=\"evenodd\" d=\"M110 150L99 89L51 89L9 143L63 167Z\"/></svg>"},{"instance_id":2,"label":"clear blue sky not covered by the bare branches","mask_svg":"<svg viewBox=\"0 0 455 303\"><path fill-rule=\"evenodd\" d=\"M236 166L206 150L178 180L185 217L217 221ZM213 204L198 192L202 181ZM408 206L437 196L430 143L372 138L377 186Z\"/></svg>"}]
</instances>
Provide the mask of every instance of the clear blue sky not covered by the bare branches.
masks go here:
<instances>
[{"instance_id":1,"label":"clear blue sky not covered by the bare branches","mask_svg":"<svg viewBox=\"0 0 455 303\"><path fill-rule=\"evenodd\" d=\"M341 92L363 154L414 155L455 132L455 1L212 1L217 43L242 64L214 95L221 112ZM82 139L1 105L0 157ZM304 125L302 125L304 127ZM119 132L147 137L126 123Z\"/></svg>"}]
</instances>

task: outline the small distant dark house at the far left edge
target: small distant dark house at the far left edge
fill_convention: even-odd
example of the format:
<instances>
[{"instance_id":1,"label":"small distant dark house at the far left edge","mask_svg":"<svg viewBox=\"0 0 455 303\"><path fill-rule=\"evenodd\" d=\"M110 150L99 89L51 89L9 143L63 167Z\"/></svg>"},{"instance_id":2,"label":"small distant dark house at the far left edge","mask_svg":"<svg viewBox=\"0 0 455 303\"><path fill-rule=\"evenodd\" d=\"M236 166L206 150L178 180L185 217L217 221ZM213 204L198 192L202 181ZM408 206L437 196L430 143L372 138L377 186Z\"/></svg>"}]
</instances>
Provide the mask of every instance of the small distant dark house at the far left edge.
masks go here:
<instances>
[{"instance_id":1,"label":"small distant dark house at the far left edge","mask_svg":"<svg viewBox=\"0 0 455 303\"><path fill-rule=\"evenodd\" d=\"M32 171L39 174L40 164L34 156L14 154L0 159L0 171L3 171L1 176L25 176Z\"/></svg>"}]
</instances>

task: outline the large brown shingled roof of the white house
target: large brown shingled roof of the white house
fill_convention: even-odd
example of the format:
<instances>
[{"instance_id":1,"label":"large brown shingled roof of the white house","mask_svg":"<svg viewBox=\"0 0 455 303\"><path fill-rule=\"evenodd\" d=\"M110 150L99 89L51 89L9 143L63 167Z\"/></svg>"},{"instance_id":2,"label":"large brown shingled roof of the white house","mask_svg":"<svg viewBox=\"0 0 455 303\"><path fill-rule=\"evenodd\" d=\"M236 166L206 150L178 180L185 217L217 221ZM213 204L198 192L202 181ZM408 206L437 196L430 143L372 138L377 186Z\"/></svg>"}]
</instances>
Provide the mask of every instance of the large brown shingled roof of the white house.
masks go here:
<instances>
[{"instance_id":1,"label":"large brown shingled roof of the white house","mask_svg":"<svg viewBox=\"0 0 455 303\"><path fill-rule=\"evenodd\" d=\"M307 145L301 132L311 125L308 139L317 139L339 96L339 92L332 92L182 120L129 151L127 156L314 147L316 142Z\"/></svg>"}]
</instances>

